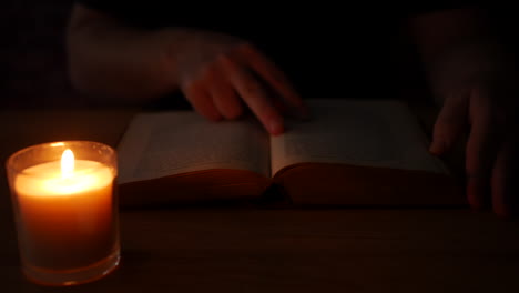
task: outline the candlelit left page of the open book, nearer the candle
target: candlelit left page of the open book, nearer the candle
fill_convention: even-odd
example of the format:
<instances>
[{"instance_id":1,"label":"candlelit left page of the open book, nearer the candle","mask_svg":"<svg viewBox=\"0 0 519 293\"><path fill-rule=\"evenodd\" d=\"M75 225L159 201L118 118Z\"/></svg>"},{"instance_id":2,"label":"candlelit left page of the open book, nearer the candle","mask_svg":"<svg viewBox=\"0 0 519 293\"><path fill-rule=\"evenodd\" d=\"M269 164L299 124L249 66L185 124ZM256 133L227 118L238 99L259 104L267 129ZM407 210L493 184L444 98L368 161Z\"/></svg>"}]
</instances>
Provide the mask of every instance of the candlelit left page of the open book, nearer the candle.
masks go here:
<instances>
[{"instance_id":1,"label":"candlelit left page of the open book, nearer the candle","mask_svg":"<svg viewBox=\"0 0 519 293\"><path fill-rule=\"evenodd\" d=\"M141 113L118 146L120 182L208 169L269 175L268 135L254 120L210 122L191 111Z\"/></svg>"}]
</instances>

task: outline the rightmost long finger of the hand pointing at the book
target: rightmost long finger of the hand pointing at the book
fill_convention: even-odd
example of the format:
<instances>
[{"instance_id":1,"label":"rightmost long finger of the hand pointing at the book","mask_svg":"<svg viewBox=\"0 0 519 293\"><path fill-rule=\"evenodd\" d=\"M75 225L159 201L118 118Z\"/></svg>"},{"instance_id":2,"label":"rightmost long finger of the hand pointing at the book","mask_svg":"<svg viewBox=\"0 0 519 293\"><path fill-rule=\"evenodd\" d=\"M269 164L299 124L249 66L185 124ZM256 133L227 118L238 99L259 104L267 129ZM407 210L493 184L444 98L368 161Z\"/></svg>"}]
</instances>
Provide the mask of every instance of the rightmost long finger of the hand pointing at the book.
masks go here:
<instances>
[{"instance_id":1,"label":"rightmost long finger of the hand pointing at the book","mask_svg":"<svg viewBox=\"0 0 519 293\"><path fill-rule=\"evenodd\" d=\"M283 99L292 114L299 118L308 117L308 109L292 87L286 75L263 53L246 43L237 49L241 61L263 78Z\"/></svg>"}]
</instances>

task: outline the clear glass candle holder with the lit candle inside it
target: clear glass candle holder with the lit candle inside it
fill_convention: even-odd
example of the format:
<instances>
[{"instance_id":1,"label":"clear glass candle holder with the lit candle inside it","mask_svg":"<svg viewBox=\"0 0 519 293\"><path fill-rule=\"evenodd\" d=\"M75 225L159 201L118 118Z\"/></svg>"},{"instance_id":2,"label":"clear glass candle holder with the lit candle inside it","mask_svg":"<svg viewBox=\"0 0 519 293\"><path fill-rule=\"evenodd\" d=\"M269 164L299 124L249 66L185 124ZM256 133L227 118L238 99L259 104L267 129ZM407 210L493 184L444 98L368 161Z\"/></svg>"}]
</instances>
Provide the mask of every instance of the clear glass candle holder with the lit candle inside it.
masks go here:
<instances>
[{"instance_id":1,"label":"clear glass candle holder with the lit candle inside it","mask_svg":"<svg viewBox=\"0 0 519 293\"><path fill-rule=\"evenodd\" d=\"M43 143L6 164L23 274L67 286L109 274L120 261L116 153L91 141Z\"/></svg>"}]
</instances>

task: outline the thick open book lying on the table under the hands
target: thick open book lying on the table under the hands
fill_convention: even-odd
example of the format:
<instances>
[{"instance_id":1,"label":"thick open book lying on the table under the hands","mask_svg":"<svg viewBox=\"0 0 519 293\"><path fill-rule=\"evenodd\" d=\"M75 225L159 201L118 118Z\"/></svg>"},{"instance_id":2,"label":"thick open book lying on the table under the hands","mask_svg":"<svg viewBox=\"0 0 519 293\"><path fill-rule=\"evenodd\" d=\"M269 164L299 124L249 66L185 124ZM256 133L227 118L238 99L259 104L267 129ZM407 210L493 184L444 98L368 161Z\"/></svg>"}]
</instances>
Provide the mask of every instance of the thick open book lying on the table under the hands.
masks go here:
<instances>
[{"instance_id":1,"label":"thick open book lying on the table under the hands","mask_svg":"<svg viewBox=\"0 0 519 293\"><path fill-rule=\"evenodd\" d=\"M277 137L254 119L138 114L118 146L121 203L254 199L276 186L293 204L465 204L405 103L306 102L312 119L288 120Z\"/></svg>"}]
</instances>

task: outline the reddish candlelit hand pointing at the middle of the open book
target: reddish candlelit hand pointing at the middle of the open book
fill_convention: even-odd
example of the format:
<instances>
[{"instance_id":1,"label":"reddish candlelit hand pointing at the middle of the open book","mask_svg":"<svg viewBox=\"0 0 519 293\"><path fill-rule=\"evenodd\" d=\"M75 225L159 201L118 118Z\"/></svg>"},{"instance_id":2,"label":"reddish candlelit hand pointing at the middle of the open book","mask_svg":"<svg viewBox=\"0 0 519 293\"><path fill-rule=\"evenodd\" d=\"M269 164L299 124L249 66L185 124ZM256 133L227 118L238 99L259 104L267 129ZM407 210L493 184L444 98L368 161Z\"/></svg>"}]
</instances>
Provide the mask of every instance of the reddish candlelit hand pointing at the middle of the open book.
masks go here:
<instances>
[{"instance_id":1,"label":"reddish candlelit hand pointing at the middle of the open book","mask_svg":"<svg viewBox=\"0 0 519 293\"><path fill-rule=\"evenodd\" d=\"M214 32L184 34L172 42L175 80L201 115L232 120L248 108L271 134L284 132L284 114L306 117L287 78L253 44Z\"/></svg>"}]
</instances>

